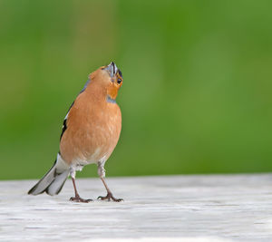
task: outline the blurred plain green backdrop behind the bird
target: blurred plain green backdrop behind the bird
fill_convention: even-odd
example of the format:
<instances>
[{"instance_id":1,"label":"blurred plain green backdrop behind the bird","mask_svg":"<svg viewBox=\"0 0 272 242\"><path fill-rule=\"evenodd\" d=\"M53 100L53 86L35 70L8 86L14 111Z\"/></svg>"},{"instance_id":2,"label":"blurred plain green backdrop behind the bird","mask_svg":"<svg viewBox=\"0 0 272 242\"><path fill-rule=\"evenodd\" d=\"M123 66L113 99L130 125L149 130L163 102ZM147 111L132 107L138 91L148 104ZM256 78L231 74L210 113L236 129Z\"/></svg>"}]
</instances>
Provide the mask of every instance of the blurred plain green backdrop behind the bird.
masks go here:
<instances>
[{"instance_id":1,"label":"blurred plain green backdrop behind the bird","mask_svg":"<svg viewBox=\"0 0 272 242\"><path fill-rule=\"evenodd\" d=\"M44 175L87 75L111 61L123 126L108 176L272 171L271 9L0 0L0 179Z\"/></svg>"}]
</instances>

